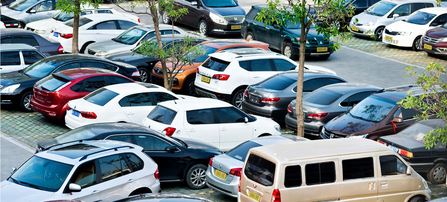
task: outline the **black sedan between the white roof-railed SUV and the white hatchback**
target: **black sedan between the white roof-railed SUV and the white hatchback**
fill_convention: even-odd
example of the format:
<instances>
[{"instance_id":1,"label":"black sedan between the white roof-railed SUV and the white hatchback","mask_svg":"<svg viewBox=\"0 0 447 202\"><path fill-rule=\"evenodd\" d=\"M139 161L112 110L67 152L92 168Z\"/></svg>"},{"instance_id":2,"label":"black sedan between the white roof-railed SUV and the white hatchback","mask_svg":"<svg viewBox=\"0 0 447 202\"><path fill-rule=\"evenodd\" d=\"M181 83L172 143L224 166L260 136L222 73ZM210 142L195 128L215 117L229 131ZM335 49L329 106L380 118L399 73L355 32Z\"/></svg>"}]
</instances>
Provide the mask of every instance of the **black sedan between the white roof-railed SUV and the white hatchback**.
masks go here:
<instances>
[{"instance_id":1,"label":"black sedan between the white roof-railed SUV and the white hatchback","mask_svg":"<svg viewBox=\"0 0 447 202\"><path fill-rule=\"evenodd\" d=\"M160 182L186 181L191 189L207 187L205 172L208 162L211 157L223 153L208 143L162 135L135 123L97 123L82 126L54 138L39 140L36 152L81 139L110 139L139 145L158 164ZM202 185L196 186L193 181L202 181Z\"/></svg>"}]
</instances>

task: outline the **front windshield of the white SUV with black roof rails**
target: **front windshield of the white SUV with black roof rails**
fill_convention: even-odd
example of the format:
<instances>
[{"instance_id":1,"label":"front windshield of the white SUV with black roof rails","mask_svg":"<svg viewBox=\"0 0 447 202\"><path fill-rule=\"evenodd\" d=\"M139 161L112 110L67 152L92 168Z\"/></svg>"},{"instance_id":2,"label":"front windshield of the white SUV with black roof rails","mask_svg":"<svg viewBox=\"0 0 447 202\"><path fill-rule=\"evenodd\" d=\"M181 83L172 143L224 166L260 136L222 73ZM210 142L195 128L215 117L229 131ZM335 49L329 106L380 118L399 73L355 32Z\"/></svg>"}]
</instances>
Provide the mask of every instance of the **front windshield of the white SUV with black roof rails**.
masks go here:
<instances>
[{"instance_id":1,"label":"front windshield of the white SUV with black roof rails","mask_svg":"<svg viewBox=\"0 0 447 202\"><path fill-rule=\"evenodd\" d=\"M8 181L34 189L56 192L72 168L73 165L33 156L21 165Z\"/></svg>"}]
</instances>

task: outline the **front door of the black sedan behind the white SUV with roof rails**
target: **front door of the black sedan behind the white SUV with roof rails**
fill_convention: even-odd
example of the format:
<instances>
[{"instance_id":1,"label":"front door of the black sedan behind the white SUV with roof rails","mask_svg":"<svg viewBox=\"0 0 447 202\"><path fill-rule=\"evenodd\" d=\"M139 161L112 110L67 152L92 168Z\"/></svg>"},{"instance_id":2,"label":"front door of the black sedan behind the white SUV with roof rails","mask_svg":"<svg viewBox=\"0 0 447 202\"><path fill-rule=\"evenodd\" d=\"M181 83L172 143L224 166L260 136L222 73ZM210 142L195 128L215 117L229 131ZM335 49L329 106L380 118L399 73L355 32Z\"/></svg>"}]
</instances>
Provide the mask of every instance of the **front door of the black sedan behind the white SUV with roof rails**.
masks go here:
<instances>
[{"instance_id":1,"label":"front door of the black sedan behind the white SUV with roof rails","mask_svg":"<svg viewBox=\"0 0 447 202\"><path fill-rule=\"evenodd\" d=\"M172 144L158 135L134 134L135 144L143 147L146 153L158 165L160 181L177 181L183 177L183 151L166 151Z\"/></svg>"}]
</instances>

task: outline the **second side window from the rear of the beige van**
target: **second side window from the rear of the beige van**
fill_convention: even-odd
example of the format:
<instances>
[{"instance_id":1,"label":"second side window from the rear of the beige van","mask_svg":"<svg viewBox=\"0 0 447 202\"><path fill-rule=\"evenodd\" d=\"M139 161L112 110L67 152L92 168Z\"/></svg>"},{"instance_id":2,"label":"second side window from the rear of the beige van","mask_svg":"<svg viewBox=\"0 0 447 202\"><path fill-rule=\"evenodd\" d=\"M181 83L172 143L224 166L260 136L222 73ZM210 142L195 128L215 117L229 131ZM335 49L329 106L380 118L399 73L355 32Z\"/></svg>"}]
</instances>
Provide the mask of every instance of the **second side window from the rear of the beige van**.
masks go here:
<instances>
[{"instance_id":1,"label":"second side window from the rear of the beige van","mask_svg":"<svg viewBox=\"0 0 447 202\"><path fill-rule=\"evenodd\" d=\"M335 181L335 163L324 162L318 164L307 164L306 185L318 185Z\"/></svg>"}]
</instances>

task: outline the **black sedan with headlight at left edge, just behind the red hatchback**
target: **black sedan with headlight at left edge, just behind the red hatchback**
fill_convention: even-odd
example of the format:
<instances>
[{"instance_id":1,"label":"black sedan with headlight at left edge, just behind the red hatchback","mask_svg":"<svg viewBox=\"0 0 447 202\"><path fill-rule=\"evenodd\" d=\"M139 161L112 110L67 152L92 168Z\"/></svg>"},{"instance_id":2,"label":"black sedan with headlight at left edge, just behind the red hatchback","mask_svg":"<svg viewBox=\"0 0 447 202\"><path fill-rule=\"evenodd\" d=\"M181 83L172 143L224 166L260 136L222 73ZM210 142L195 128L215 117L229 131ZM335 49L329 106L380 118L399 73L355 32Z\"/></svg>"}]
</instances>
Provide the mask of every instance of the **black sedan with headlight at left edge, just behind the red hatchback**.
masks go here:
<instances>
[{"instance_id":1,"label":"black sedan with headlight at left edge, just behind the red hatchback","mask_svg":"<svg viewBox=\"0 0 447 202\"><path fill-rule=\"evenodd\" d=\"M17 104L25 112L31 112L30 100L33 97L33 86L39 80L52 73L80 67L102 67L140 81L136 67L126 63L112 62L93 55L64 54L39 60L23 70L2 73L0 76L1 104Z\"/></svg>"}]
</instances>

